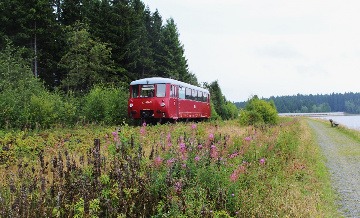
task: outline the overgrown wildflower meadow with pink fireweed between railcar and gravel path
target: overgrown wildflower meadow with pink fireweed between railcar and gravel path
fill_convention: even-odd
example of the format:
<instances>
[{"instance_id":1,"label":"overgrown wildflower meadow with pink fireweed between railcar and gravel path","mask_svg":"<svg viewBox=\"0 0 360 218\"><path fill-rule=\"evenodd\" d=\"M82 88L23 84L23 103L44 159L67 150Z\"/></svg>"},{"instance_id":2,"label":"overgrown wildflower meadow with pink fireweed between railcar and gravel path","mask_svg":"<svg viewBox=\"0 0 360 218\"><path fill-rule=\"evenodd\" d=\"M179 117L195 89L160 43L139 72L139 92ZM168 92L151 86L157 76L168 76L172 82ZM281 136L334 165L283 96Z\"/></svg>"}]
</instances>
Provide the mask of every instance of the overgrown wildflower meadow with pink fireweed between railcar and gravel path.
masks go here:
<instances>
[{"instance_id":1,"label":"overgrown wildflower meadow with pink fireweed between railcar and gravel path","mask_svg":"<svg viewBox=\"0 0 360 218\"><path fill-rule=\"evenodd\" d=\"M87 135L88 142L78 142L80 147L66 147L62 139L58 142L62 146L46 147L40 141L34 147L41 149L32 159L18 154L3 162L0 214L291 215L284 203L287 192L293 181L306 180L306 163L293 162L299 126L296 119L277 126L223 123L219 128L209 123L149 126L144 122L140 127L125 125L121 132ZM100 138L100 151L92 144L95 137Z\"/></svg>"}]
</instances>

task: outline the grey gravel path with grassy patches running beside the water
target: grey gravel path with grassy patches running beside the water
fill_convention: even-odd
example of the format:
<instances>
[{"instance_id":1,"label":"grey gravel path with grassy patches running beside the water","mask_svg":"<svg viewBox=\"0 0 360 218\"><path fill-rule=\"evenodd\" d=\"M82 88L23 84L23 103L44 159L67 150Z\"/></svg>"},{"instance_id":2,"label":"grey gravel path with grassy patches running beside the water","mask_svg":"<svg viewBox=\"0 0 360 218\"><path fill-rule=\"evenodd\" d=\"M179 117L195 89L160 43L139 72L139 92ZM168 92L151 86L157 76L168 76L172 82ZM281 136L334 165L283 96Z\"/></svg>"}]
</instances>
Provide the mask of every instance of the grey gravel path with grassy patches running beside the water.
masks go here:
<instances>
[{"instance_id":1,"label":"grey gravel path with grassy patches running beside the water","mask_svg":"<svg viewBox=\"0 0 360 218\"><path fill-rule=\"evenodd\" d=\"M332 187L339 211L345 217L360 217L360 144L323 123L306 119L318 137L327 158Z\"/></svg>"}]
</instances>

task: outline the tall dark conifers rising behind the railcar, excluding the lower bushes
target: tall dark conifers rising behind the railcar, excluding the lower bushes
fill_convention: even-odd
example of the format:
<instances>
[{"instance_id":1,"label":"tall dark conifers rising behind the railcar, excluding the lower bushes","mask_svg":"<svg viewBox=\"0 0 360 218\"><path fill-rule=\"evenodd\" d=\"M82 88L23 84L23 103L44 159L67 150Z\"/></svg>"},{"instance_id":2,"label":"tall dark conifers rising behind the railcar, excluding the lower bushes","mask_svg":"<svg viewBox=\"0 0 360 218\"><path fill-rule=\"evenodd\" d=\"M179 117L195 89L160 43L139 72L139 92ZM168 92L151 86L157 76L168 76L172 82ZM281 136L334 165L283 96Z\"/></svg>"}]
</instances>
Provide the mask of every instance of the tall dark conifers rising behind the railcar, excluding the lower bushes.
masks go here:
<instances>
[{"instance_id":1,"label":"tall dark conifers rising behind the railcar, excluding the lower bushes","mask_svg":"<svg viewBox=\"0 0 360 218\"><path fill-rule=\"evenodd\" d=\"M168 77L197 85L174 19L140 0L2 0L0 48L24 47L34 77L83 95L99 82Z\"/></svg>"}]
</instances>

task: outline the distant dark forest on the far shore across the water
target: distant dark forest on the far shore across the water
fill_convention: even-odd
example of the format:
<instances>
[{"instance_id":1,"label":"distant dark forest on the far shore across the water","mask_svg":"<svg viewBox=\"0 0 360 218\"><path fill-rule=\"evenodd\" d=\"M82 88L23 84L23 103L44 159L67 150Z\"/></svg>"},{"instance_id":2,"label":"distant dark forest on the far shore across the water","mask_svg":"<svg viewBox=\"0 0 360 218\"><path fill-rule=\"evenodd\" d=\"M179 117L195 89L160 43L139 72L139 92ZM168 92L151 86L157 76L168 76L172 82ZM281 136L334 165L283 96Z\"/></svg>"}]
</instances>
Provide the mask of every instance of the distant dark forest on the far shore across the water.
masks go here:
<instances>
[{"instance_id":1,"label":"distant dark forest on the far shore across the water","mask_svg":"<svg viewBox=\"0 0 360 218\"><path fill-rule=\"evenodd\" d=\"M320 113L346 112L360 114L360 93L347 92L326 95L287 95L262 98L273 100L279 113ZM243 108L247 101L234 102L237 108Z\"/></svg>"}]
</instances>

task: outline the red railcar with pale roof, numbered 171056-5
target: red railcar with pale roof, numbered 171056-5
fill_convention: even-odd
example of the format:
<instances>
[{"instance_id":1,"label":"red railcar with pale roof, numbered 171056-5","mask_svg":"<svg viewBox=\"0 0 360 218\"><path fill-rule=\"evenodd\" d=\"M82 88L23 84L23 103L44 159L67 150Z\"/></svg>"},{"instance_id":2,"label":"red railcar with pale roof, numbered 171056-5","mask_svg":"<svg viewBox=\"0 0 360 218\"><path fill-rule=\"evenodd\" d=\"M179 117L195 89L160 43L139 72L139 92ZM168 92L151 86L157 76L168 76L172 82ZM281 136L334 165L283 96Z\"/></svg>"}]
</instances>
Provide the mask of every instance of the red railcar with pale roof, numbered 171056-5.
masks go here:
<instances>
[{"instance_id":1,"label":"red railcar with pale roof, numbered 171056-5","mask_svg":"<svg viewBox=\"0 0 360 218\"><path fill-rule=\"evenodd\" d=\"M131 119L145 119L149 122L211 117L209 91L160 77L132 81L127 108Z\"/></svg>"}]
</instances>

